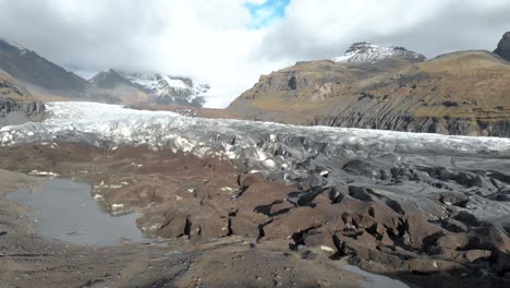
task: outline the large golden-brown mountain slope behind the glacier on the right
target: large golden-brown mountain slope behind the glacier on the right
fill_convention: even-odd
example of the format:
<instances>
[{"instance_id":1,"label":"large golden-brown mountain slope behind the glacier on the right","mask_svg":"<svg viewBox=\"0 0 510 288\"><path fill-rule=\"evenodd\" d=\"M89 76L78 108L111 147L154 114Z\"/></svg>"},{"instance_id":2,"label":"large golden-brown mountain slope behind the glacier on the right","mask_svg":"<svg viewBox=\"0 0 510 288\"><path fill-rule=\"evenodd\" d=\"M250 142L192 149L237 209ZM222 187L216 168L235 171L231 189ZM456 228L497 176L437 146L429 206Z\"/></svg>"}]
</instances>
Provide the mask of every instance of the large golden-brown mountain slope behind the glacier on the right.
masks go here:
<instances>
[{"instance_id":1,"label":"large golden-brown mountain slope behind the glacier on the right","mask_svg":"<svg viewBox=\"0 0 510 288\"><path fill-rule=\"evenodd\" d=\"M487 51L418 63L298 63L260 77L229 110L253 119L510 136L510 64Z\"/></svg>"}]
</instances>

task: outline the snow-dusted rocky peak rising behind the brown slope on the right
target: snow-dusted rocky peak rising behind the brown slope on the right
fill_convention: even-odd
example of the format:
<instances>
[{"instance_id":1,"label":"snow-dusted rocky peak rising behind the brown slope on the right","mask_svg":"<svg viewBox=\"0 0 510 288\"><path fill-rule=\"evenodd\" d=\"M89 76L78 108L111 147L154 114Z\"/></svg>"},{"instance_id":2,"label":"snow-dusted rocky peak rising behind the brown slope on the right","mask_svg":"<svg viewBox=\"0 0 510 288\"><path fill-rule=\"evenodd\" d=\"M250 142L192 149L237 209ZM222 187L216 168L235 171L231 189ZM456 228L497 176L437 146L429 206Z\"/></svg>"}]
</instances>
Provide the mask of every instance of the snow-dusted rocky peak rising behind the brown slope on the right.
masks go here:
<instances>
[{"instance_id":1,"label":"snow-dusted rocky peak rising behind the brown slope on the right","mask_svg":"<svg viewBox=\"0 0 510 288\"><path fill-rule=\"evenodd\" d=\"M400 58L411 61L424 61L421 53L403 47L381 46L368 43L355 43L340 57L331 59L335 62L374 63L385 59Z\"/></svg>"}]
</instances>

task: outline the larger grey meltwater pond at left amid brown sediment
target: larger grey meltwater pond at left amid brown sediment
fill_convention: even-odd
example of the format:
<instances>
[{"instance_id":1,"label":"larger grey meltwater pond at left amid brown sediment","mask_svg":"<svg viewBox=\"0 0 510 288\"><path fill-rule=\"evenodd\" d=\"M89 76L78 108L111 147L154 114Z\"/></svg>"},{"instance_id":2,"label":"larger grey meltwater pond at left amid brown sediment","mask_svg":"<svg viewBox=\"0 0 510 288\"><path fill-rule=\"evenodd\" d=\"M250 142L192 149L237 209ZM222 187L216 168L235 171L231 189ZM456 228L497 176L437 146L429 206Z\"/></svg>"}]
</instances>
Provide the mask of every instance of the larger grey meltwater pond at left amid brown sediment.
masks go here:
<instances>
[{"instance_id":1,"label":"larger grey meltwater pond at left amid brown sediment","mask_svg":"<svg viewBox=\"0 0 510 288\"><path fill-rule=\"evenodd\" d=\"M20 189L8 199L29 206L38 235L75 244L112 245L149 241L136 227L136 213L112 216L90 195L90 185L69 179L41 179L40 189Z\"/></svg>"}]
</instances>

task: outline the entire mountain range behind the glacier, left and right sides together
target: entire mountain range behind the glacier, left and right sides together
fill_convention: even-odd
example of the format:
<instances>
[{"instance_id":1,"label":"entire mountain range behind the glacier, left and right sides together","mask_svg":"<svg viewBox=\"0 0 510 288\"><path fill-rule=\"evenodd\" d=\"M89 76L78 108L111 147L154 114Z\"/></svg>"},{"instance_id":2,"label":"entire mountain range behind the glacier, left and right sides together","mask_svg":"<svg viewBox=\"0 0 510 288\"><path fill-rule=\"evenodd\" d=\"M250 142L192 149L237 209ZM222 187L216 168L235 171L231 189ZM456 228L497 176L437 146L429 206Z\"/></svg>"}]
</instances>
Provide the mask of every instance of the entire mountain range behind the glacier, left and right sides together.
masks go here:
<instances>
[{"instance_id":1,"label":"entire mountain range behind the glacier, left and right sides together","mask_svg":"<svg viewBox=\"0 0 510 288\"><path fill-rule=\"evenodd\" d=\"M510 136L509 61L510 33L494 52L459 51L433 59L403 47L355 43L342 56L301 61L260 76L223 112L215 115L294 124ZM5 40L0 40L0 69L9 80L4 83L11 83L9 89L2 86L2 98L17 95L17 91L34 100L202 107L210 88L190 77L116 69L87 81Z\"/></svg>"}]
</instances>

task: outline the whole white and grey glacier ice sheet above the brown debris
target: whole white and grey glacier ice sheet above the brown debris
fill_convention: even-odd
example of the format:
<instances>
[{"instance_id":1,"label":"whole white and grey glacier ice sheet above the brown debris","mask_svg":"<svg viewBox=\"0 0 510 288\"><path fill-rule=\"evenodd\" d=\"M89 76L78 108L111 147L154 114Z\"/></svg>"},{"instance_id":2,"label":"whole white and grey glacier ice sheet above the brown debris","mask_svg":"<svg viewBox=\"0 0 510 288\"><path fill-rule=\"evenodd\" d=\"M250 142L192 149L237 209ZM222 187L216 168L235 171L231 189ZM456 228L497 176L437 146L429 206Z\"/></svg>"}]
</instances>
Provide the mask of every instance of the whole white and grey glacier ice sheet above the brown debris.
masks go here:
<instances>
[{"instance_id":1,"label":"whole white and grey glacier ice sheet above the brown debris","mask_svg":"<svg viewBox=\"0 0 510 288\"><path fill-rule=\"evenodd\" d=\"M326 187L349 184L412 202L441 219L448 212L438 197L462 194L478 219L510 227L510 206L493 200L510 191L510 139L193 118L85 101L49 103L47 113L42 122L0 129L0 145L147 145L218 157L296 184L299 191L289 196L296 205Z\"/></svg>"}]
</instances>

